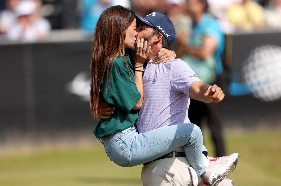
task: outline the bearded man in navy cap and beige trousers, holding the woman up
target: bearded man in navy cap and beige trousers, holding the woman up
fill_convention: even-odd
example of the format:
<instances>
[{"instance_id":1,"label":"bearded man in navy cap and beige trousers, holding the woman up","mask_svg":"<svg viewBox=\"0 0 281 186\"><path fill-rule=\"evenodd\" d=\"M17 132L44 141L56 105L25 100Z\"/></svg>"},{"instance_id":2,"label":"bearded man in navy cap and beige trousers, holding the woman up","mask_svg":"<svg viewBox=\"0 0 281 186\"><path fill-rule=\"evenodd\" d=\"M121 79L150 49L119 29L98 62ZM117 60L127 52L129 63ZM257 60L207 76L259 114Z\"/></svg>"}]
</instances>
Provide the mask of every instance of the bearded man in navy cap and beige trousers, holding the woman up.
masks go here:
<instances>
[{"instance_id":1,"label":"bearded man in navy cap and beige trousers, holding the woman up","mask_svg":"<svg viewBox=\"0 0 281 186\"><path fill-rule=\"evenodd\" d=\"M202 83L192 71L192 69L180 59L173 59L167 63L155 64L153 57L157 55L159 49L166 48L172 50L171 44L175 39L175 28L166 15L153 12L146 17L140 17L137 40L144 38L151 46L147 65L144 68L143 87L144 100L139 111L137 129L143 133L162 126L175 125L180 123L190 123L188 119L188 108L190 97L206 103L212 101L219 103L224 98L221 88L217 85L207 85ZM138 52L139 46L134 46L133 51ZM165 135L165 134L163 134ZM218 169L224 165L227 157L218 159L207 159L208 151L203 149L203 157L206 174L202 177L208 182L204 182L201 176L190 167L183 148L164 155L156 160L147 162L142 168L143 185L189 185L197 186L209 185L210 169L217 166ZM222 180L224 176L219 176L216 182L210 185L231 186L231 180ZM216 185L217 185L216 184Z\"/></svg>"}]
</instances>

